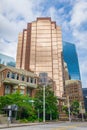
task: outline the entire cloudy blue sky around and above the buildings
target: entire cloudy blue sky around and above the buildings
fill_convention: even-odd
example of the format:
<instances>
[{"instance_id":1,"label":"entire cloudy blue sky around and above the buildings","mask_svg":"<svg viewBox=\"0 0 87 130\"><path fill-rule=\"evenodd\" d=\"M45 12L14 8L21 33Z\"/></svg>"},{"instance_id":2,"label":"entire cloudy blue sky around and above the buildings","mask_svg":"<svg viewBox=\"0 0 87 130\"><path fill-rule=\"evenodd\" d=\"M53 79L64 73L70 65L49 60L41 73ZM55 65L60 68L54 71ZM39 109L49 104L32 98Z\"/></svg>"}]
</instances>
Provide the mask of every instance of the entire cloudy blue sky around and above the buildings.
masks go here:
<instances>
[{"instance_id":1,"label":"entire cloudy blue sky around and above the buildings","mask_svg":"<svg viewBox=\"0 0 87 130\"><path fill-rule=\"evenodd\" d=\"M87 0L0 0L0 53L16 59L18 34L37 17L51 17L63 41L76 45L82 87L87 87Z\"/></svg>"}]
</instances>

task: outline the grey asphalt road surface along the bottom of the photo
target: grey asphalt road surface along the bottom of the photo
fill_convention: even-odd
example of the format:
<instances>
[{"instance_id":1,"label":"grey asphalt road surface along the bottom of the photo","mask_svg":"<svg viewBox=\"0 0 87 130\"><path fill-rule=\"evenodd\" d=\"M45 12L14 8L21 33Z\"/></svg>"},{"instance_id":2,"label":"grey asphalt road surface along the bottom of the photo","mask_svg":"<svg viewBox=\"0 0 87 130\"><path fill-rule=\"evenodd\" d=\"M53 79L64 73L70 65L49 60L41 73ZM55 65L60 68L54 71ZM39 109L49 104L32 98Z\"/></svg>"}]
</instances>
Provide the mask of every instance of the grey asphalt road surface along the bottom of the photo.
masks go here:
<instances>
[{"instance_id":1,"label":"grey asphalt road surface along the bottom of the photo","mask_svg":"<svg viewBox=\"0 0 87 130\"><path fill-rule=\"evenodd\" d=\"M43 125L5 128L3 130L87 130L87 122L50 123Z\"/></svg>"}]
</instances>

